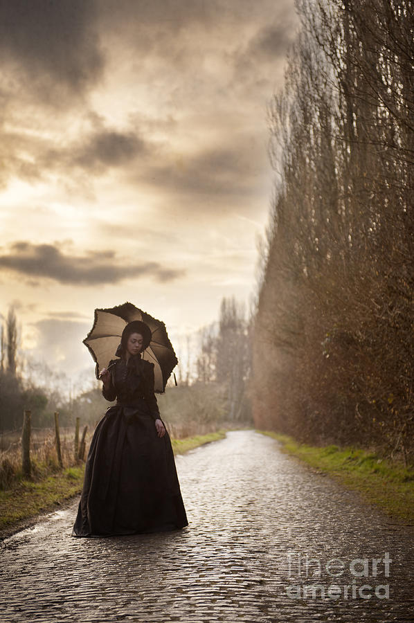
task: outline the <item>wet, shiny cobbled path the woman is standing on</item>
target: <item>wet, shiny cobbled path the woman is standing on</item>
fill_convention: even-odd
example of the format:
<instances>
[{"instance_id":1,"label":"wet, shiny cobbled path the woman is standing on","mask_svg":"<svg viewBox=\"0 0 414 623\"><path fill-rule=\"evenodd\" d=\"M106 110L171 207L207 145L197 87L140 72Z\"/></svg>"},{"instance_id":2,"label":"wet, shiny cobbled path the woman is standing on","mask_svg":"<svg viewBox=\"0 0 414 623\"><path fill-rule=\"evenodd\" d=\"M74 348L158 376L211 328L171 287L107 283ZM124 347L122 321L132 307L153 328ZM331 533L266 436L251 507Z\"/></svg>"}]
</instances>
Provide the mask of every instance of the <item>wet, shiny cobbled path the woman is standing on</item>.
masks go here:
<instances>
[{"instance_id":1,"label":"wet, shiny cobbled path the woman is standing on","mask_svg":"<svg viewBox=\"0 0 414 623\"><path fill-rule=\"evenodd\" d=\"M282 454L270 437L228 433L178 456L177 471L184 530L76 539L76 500L4 540L1 622L414 621L412 527ZM381 559L377 575L372 558ZM367 577L355 575L363 572L355 559L368 559Z\"/></svg>"}]
</instances>

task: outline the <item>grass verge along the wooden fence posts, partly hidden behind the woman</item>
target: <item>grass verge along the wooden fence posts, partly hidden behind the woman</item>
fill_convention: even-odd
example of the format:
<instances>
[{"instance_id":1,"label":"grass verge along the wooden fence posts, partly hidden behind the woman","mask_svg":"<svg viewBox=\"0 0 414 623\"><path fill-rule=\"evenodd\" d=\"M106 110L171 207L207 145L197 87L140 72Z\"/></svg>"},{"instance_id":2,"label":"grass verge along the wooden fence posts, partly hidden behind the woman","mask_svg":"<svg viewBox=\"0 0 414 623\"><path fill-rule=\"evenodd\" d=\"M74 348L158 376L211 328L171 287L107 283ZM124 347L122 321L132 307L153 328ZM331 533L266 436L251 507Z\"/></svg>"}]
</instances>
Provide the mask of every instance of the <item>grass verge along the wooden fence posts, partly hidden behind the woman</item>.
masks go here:
<instances>
[{"instance_id":1,"label":"grass verge along the wooden fence posts, partly hidden behind the woman","mask_svg":"<svg viewBox=\"0 0 414 623\"><path fill-rule=\"evenodd\" d=\"M208 435L172 439L172 449L174 454L183 454L225 436L225 431L217 431ZM30 520L43 512L64 506L82 491L83 476L84 465L68 467L33 480L21 479L10 489L0 491L0 536L8 536L16 529L30 525Z\"/></svg>"}]
</instances>

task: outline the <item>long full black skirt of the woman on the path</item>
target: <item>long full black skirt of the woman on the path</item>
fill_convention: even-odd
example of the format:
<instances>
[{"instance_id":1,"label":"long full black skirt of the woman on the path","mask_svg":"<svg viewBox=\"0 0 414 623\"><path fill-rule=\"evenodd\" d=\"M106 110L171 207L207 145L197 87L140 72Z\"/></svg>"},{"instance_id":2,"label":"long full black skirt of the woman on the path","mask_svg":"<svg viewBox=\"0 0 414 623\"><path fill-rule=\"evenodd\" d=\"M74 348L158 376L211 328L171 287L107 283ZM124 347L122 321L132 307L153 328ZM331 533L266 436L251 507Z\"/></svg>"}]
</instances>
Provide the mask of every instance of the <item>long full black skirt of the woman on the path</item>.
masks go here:
<instances>
[{"instance_id":1,"label":"long full black skirt of the woman on the path","mask_svg":"<svg viewBox=\"0 0 414 623\"><path fill-rule=\"evenodd\" d=\"M188 525L170 436L145 404L109 407L93 433L73 536L164 532Z\"/></svg>"}]
</instances>

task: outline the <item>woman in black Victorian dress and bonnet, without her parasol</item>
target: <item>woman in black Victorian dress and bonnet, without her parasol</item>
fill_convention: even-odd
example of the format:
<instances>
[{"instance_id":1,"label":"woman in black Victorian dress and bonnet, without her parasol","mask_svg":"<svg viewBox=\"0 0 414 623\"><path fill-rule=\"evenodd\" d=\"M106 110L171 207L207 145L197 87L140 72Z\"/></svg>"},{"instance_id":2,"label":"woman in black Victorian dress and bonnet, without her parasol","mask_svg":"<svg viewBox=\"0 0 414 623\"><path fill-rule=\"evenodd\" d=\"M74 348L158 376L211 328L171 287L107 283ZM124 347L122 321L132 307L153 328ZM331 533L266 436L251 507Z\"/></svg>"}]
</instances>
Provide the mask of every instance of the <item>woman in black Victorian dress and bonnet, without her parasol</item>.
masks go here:
<instances>
[{"instance_id":1,"label":"woman in black Victorian dress and bonnet, without her parasol","mask_svg":"<svg viewBox=\"0 0 414 623\"><path fill-rule=\"evenodd\" d=\"M134 320L100 373L116 404L96 426L73 536L163 532L188 525L170 436L154 395L154 364L141 359L151 330Z\"/></svg>"}]
</instances>

